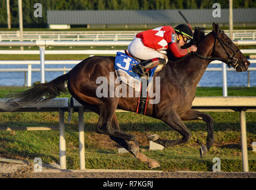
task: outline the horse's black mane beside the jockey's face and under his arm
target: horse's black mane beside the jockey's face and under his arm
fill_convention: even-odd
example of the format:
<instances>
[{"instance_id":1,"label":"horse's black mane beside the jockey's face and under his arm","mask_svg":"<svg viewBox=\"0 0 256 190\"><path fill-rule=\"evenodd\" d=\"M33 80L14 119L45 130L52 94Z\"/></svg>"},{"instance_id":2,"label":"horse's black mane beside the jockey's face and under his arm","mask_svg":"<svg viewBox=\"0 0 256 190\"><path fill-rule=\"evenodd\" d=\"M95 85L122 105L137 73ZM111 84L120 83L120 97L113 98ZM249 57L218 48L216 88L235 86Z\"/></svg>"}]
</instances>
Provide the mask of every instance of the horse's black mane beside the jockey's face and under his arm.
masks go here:
<instances>
[{"instance_id":1,"label":"horse's black mane beside the jockey's face and under his arm","mask_svg":"<svg viewBox=\"0 0 256 190\"><path fill-rule=\"evenodd\" d=\"M201 28L201 27L195 27L195 31L193 32L193 39L191 40L191 42L187 43L185 46L182 47L182 49L186 49L188 47L190 47L191 45L198 45L198 43L200 43L202 41L202 39L204 39L205 37L205 29ZM168 59L172 61L182 61L182 59L190 56L191 53L189 53L186 56L183 56L182 58L176 58L173 56L173 53L171 53L170 50L167 51L167 56Z\"/></svg>"}]
</instances>

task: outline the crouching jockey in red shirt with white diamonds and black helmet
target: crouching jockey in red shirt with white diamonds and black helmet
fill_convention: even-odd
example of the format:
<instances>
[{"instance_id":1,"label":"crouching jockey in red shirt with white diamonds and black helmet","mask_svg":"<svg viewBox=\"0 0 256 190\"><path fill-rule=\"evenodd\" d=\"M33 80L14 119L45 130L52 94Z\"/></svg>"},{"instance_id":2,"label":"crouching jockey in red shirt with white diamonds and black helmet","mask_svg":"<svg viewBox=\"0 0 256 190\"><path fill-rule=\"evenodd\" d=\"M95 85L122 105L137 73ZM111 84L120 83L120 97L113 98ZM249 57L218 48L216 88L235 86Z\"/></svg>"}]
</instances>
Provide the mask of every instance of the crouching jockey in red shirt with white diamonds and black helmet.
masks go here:
<instances>
[{"instance_id":1,"label":"crouching jockey in red shirt with white diamonds and black helmet","mask_svg":"<svg viewBox=\"0 0 256 190\"><path fill-rule=\"evenodd\" d=\"M146 73L149 69L167 64L167 49L170 49L177 58L196 52L195 45L187 49L181 48L192 39L192 34L192 30L186 24L180 24L175 29L171 26L163 26L136 34L128 46L128 51L135 58L146 61L133 66L133 71L140 77L147 77Z\"/></svg>"}]
</instances>

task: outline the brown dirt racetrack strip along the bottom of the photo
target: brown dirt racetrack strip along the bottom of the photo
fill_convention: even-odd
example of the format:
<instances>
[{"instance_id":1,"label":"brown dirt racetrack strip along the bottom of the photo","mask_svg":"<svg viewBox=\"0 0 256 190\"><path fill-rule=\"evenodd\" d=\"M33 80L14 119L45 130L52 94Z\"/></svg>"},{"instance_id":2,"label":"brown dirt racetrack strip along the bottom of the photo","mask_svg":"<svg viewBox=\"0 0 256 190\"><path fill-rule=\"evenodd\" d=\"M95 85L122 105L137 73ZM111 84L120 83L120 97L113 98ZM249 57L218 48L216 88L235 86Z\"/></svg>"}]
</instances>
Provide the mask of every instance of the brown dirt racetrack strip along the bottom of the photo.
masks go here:
<instances>
[{"instance_id":1,"label":"brown dirt racetrack strip along the bottom of the photo","mask_svg":"<svg viewBox=\"0 0 256 190\"><path fill-rule=\"evenodd\" d=\"M34 172L32 164L0 162L0 178L256 178L256 172L163 172L157 170L61 170L43 167Z\"/></svg>"}]
</instances>

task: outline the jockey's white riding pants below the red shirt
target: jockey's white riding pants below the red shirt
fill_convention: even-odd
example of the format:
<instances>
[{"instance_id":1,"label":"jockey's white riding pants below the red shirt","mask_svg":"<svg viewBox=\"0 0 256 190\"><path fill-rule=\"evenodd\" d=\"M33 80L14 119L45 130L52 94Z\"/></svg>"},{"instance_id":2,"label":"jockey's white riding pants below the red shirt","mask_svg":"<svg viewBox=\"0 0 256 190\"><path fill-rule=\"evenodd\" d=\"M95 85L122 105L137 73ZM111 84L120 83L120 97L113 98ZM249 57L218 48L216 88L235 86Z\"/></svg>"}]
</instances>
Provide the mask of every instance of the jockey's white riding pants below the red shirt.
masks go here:
<instances>
[{"instance_id":1,"label":"jockey's white riding pants below the red shirt","mask_svg":"<svg viewBox=\"0 0 256 190\"><path fill-rule=\"evenodd\" d=\"M129 44L128 52L130 53L130 55L135 56L135 58L143 60L162 58L166 59L166 62L168 62L167 55L165 55L166 51L160 52L150 47L146 47L143 45L142 40L137 37L134 37L133 41Z\"/></svg>"}]
</instances>

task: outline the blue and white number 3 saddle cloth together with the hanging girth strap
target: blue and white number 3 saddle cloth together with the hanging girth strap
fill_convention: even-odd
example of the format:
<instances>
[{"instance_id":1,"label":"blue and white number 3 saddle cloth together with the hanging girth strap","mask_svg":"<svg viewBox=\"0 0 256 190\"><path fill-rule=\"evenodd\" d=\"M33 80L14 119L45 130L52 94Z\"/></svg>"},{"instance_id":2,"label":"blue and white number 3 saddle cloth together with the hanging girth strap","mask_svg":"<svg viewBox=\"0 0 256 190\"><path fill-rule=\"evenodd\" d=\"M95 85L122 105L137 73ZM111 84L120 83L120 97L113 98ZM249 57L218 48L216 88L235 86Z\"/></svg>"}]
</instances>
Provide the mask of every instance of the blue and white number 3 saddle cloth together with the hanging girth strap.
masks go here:
<instances>
[{"instance_id":1,"label":"blue and white number 3 saddle cloth together with the hanging girth strap","mask_svg":"<svg viewBox=\"0 0 256 190\"><path fill-rule=\"evenodd\" d=\"M146 80L140 78L138 74L133 72L132 67L137 64L139 64L139 62L136 59L125 53L117 52L117 55L115 56L114 67L118 79L130 87L135 88L135 91L140 92L136 113L145 115L146 105L148 103L148 84L151 82L157 66L149 70L149 78Z\"/></svg>"}]
</instances>

